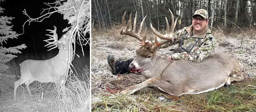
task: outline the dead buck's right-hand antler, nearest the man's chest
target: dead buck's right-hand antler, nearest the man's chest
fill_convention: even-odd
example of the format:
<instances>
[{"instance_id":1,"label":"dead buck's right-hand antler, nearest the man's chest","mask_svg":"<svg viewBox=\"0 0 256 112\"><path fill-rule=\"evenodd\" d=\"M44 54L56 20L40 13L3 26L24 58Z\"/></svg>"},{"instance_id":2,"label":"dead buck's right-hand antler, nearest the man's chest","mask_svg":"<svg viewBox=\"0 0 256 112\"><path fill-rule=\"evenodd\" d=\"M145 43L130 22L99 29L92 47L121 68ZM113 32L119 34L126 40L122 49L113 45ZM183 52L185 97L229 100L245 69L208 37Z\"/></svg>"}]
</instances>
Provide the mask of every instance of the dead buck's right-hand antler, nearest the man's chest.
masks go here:
<instances>
[{"instance_id":1,"label":"dead buck's right-hand antler, nearest the man's chest","mask_svg":"<svg viewBox=\"0 0 256 112\"><path fill-rule=\"evenodd\" d=\"M175 22L174 22L173 13L171 12L170 9L169 9L169 11L170 11L170 13L171 13L171 32L169 32L169 23L168 23L167 18L166 18L166 34L165 34L165 35L159 33L159 32L156 30L156 28L153 28L152 24L150 23L150 28L151 28L151 30L154 32L154 34L156 34L156 35L157 35L159 38L161 38L161 39L165 39L165 41L158 42L158 41L156 40L156 37L155 37L155 44L154 44L154 46L152 46L153 49L156 49L156 48L158 48L159 46L161 46L161 45L163 45L163 44L165 44L165 43L168 43L168 42L172 41L172 39L173 39L173 38L172 38L172 37L173 37L173 30L174 30L174 28L175 28L175 26L176 26L176 23L177 23L177 19L178 19L178 18L176 18L176 20L175 20Z\"/></svg>"}]
</instances>

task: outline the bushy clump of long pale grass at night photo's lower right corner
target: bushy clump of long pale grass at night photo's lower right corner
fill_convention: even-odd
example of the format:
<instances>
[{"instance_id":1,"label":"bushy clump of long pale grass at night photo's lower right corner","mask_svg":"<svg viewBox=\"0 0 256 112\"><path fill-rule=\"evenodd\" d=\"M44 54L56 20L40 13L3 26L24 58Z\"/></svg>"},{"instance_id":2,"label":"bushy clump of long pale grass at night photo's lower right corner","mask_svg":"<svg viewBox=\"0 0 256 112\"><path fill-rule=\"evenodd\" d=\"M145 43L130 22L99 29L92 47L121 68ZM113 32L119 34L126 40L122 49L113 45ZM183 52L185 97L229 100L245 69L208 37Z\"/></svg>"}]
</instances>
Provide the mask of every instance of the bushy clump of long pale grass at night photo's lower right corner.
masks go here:
<instances>
[{"instance_id":1,"label":"bushy clump of long pale grass at night photo's lower right corner","mask_svg":"<svg viewBox=\"0 0 256 112\"><path fill-rule=\"evenodd\" d=\"M90 110L89 81L81 81L76 76L68 76L65 86L57 86L54 91L56 94L53 94L53 103L56 107L52 111L88 112Z\"/></svg>"}]
</instances>

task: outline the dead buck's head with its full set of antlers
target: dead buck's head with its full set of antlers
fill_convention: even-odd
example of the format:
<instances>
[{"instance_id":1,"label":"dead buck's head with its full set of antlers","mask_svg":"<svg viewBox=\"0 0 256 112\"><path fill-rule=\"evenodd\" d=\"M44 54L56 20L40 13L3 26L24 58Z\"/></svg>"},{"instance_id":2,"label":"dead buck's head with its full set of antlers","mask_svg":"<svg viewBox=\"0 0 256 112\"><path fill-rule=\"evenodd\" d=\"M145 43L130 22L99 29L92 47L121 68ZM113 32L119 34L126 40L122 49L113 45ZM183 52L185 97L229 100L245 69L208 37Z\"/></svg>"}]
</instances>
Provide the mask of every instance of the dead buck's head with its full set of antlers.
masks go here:
<instances>
[{"instance_id":1,"label":"dead buck's head with its full set of antlers","mask_svg":"<svg viewBox=\"0 0 256 112\"><path fill-rule=\"evenodd\" d=\"M143 21L140 23L140 28L139 31L136 33L136 19L137 19L137 12L135 14L135 19L134 19L134 28L132 30L132 23L131 23L131 18L132 18L132 13L130 14L130 18L128 21L128 24L126 26L124 26L125 24L125 15L126 12L124 12L124 15L122 17L122 29L120 34L121 35L130 35L132 37L135 37L136 39L139 39L139 41L141 41L142 46L136 50L136 58L134 58L133 62L129 65L129 69L132 69L133 71L140 71L143 72L147 69L150 69L154 66L154 63L156 61L156 58L158 58L158 47L160 47L161 45L168 43L169 41L172 41L172 37L173 37L173 30L175 28L175 25L177 23L177 19L174 22L173 19L173 13L171 12L171 10L169 9L170 13L171 13L171 32L169 32L169 24L168 24L168 20L166 18L166 34L160 34L155 28L153 28L152 24L150 24L151 30L154 32L155 36L155 44L154 45L148 45L145 44L146 38L147 38L147 28L145 30L145 34L142 36L141 34L141 30L142 30L142 26L143 26L143 22L146 19L146 16L144 17ZM165 39L165 41L162 42L158 42L157 41L157 37L160 37L161 39Z\"/></svg>"}]
</instances>

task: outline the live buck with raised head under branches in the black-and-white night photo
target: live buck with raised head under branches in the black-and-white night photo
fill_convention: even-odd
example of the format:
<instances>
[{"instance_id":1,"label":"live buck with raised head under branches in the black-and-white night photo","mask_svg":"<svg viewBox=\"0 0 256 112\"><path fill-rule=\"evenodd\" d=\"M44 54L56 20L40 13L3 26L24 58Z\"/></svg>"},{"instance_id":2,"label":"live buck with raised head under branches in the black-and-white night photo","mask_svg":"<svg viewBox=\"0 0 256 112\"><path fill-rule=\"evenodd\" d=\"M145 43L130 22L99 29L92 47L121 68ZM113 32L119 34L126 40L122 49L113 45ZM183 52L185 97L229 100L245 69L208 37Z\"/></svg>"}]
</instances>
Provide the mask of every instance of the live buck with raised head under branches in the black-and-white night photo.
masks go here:
<instances>
[{"instance_id":1,"label":"live buck with raised head under branches in the black-and-white night photo","mask_svg":"<svg viewBox=\"0 0 256 112\"><path fill-rule=\"evenodd\" d=\"M42 83L47 82L57 82L60 81L62 75L64 75L68 68L68 54L69 54L69 41L71 41L71 30L68 30L66 34L62 35L62 37L58 40L58 35L56 34L56 26L54 26L54 30L47 30L53 33L50 36L50 39L44 40L48 42L46 46L51 45L49 47L55 46L49 50L55 49L58 47L58 54L47 60L25 60L20 64L21 68L21 77L19 80L14 82L14 91L13 98L16 100L17 87L23 83L25 83L26 88L30 96L32 96L29 84L34 81L39 81ZM53 40L53 42L50 42ZM73 41L72 41L73 42ZM48 51L49 51L48 50ZM71 59L73 58L73 47L71 45Z\"/></svg>"}]
</instances>

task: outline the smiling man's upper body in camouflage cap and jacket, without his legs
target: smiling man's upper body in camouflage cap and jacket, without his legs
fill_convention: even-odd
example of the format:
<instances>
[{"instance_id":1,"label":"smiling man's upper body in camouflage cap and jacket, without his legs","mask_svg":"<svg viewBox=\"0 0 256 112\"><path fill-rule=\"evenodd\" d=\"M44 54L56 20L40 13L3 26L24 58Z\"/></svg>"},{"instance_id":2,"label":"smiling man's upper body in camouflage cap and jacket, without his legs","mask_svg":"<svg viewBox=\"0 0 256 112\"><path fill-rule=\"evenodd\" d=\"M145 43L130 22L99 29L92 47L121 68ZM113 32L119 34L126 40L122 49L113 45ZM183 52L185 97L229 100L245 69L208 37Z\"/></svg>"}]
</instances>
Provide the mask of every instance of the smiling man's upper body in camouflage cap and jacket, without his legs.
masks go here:
<instances>
[{"instance_id":1,"label":"smiling man's upper body in camouflage cap and jacket, without his legs","mask_svg":"<svg viewBox=\"0 0 256 112\"><path fill-rule=\"evenodd\" d=\"M176 53L169 56L171 60L190 60L200 62L215 51L216 40L208 29L209 17L204 9L198 9L192 15L192 25L175 32L173 43L163 47L180 43Z\"/></svg>"}]
</instances>

